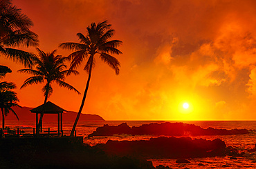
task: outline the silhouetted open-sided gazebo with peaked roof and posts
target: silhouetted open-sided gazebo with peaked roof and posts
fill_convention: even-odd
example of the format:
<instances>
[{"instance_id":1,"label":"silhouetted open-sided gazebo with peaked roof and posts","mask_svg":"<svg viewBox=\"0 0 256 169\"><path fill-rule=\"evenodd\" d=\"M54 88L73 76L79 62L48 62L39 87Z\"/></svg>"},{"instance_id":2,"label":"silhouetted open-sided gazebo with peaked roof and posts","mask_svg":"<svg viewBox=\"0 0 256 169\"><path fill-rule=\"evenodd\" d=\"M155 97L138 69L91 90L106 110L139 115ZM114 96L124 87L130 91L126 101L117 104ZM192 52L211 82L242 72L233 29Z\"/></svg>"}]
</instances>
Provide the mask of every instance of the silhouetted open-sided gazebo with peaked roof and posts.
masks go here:
<instances>
[{"instance_id":1,"label":"silhouetted open-sided gazebo with peaked roof and posts","mask_svg":"<svg viewBox=\"0 0 256 169\"><path fill-rule=\"evenodd\" d=\"M58 130L57 133L60 135L60 132L63 132L62 130L62 113L66 112L63 108L60 108L59 106L55 105L51 101L47 101L46 103L42 104L41 106L38 106L37 108L33 108L30 110L30 112L36 113L36 128L38 126L38 114L44 113L44 114L57 114L58 115ZM49 131L50 132L50 131Z\"/></svg>"}]
</instances>

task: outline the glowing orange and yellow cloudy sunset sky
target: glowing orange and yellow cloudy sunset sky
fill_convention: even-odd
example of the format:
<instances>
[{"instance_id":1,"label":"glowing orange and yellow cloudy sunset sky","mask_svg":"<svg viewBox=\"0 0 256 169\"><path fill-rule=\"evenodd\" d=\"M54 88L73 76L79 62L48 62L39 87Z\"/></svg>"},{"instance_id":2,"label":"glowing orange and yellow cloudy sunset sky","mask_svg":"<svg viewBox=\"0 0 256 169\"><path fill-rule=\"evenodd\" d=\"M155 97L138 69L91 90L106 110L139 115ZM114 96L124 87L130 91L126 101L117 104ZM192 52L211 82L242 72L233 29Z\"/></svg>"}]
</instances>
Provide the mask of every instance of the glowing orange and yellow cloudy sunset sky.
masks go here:
<instances>
[{"instance_id":1,"label":"glowing orange and yellow cloudy sunset sky","mask_svg":"<svg viewBox=\"0 0 256 169\"><path fill-rule=\"evenodd\" d=\"M60 43L78 42L92 22L108 20L122 40L120 74L99 58L82 113L106 120L256 120L256 1L254 0L12 0L33 20L39 49L67 56ZM35 52L35 48L24 48ZM96 56L98 57L98 56ZM11 68L21 106L44 103L42 84ZM69 65L69 63L67 63ZM88 74L67 77L84 92ZM78 111L82 95L53 86L50 101ZM183 108L188 103L189 108Z\"/></svg>"}]
</instances>

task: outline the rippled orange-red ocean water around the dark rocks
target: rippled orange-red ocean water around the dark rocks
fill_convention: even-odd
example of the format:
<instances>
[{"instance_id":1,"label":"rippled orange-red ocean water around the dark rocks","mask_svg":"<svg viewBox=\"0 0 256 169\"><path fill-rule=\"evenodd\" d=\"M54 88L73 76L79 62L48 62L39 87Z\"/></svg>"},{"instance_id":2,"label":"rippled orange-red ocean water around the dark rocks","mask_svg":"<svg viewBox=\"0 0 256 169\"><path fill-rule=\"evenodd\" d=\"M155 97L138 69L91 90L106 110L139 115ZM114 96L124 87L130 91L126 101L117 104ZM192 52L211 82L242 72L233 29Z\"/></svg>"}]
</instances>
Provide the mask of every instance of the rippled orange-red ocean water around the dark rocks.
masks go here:
<instances>
[{"instance_id":1,"label":"rippled orange-red ocean water around the dark rocks","mask_svg":"<svg viewBox=\"0 0 256 169\"><path fill-rule=\"evenodd\" d=\"M183 122L190 123L201 128L217 128L217 129L248 129L253 130L250 134L246 135L214 135L214 136L186 136L192 137L192 139L221 139L225 141L226 146L232 146L239 151L246 152L244 157L237 157L237 159L230 159L230 157L207 157L207 158L195 158L188 159L190 163L175 163L176 159L148 159L152 161L154 166L163 165L170 168L256 168L256 152L248 152L248 149L255 148L256 143L256 121L79 121L76 127L76 134L84 137L84 143L88 143L90 146L95 146L98 143L106 143L111 140L149 140L152 135L113 135L110 137L93 137L91 139L86 138L96 128L109 124L111 126L117 126L121 123L127 123L128 126L141 126L148 123L164 123L164 122ZM32 131L35 128L35 121L6 121L6 126L10 128L19 127L24 131ZM51 130L57 130L57 123L44 121L44 128L51 128ZM64 135L70 133L73 126L73 121L64 121L63 130ZM198 166L201 163L204 166Z\"/></svg>"}]
</instances>

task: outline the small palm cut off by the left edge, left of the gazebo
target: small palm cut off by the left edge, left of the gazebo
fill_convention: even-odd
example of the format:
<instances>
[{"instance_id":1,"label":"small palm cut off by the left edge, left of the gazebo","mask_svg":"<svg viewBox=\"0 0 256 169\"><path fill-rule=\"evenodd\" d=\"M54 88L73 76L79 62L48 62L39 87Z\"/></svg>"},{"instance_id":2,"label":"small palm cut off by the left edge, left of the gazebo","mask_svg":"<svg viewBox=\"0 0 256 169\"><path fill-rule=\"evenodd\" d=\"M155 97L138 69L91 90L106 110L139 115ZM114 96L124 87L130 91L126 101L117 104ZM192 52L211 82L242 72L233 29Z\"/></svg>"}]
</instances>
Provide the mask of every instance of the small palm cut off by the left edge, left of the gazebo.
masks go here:
<instances>
[{"instance_id":1,"label":"small palm cut off by the left edge, left of the gazebo","mask_svg":"<svg viewBox=\"0 0 256 169\"><path fill-rule=\"evenodd\" d=\"M17 116L16 112L12 109L12 106L19 106L18 102L19 99L17 97L17 93L13 92L9 89L16 88L14 83L9 83L8 87L6 88L0 88L0 108L2 112L2 128L5 128L5 117L9 114L9 112L13 112L17 119L19 120L19 117ZM21 106L19 106L21 107Z\"/></svg>"}]
</instances>

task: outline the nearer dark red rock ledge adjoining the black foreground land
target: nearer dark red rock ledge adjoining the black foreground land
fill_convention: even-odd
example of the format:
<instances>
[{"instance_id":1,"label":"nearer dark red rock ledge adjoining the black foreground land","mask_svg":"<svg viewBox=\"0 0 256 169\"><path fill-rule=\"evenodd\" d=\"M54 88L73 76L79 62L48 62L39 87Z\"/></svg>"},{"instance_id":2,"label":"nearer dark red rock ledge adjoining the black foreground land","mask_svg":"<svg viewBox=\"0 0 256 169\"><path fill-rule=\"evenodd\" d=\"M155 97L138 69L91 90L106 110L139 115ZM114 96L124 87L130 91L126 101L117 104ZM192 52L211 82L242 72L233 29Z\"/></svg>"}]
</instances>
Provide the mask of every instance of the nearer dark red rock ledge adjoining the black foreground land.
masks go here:
<instances>
[{"instance_id":1,"label":"nearer dark red rock ledge adjoining the black foreground land","mask_svg":"<svg viewBox=\"0 0 256 169\"><path fill-rule=\"evenodd\" d=\"M149 141L107 141L94 147L108 154L120 156L140 156L147 159L158 158L195 158L224 156L226 144L221 139L208 141L189 137L158 137Z\"/></svg>"}]
</instances>

